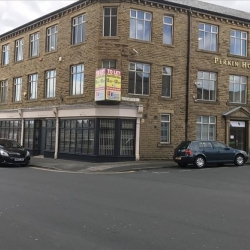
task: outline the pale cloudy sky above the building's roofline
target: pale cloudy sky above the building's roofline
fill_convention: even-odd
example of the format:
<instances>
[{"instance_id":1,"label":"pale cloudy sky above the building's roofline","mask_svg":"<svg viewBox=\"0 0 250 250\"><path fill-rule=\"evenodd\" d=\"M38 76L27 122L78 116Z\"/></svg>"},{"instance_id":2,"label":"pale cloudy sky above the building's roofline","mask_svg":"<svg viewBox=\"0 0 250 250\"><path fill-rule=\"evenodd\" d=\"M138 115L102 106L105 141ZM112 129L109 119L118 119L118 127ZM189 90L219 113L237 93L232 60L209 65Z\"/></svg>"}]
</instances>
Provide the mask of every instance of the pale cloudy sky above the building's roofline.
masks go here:
<instances>
[{"instance_id":1,"label":"pale cloudy sky above the building's roofline","mask_svg":"<svg viewBox=\"0 0 250 250\"><path fill-rule=\"evenodd\" d=\"M0 0L0 34L4 34L36 18L77 0ZM250 13L250 0L202 0Z\"/></svg>"}]
</instances>

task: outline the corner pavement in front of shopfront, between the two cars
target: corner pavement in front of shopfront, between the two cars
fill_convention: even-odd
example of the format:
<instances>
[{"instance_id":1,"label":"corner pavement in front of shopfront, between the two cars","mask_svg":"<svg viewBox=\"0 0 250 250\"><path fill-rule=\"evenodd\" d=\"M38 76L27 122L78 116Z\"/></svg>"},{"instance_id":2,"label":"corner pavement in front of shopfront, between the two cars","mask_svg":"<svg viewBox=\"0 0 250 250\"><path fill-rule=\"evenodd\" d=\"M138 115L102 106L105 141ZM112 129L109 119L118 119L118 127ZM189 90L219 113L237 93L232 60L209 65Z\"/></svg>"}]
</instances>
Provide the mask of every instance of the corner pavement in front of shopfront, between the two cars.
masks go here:
<instances>
[{"instance_id":1,"label":"corner pavement in front of shopfront, between the two cars","mask_svg":"<svg viewBox=\"0 0 250 250\"><path fill-rule=\"evenodd\" d=\"M55 160L43 158L42 156L31 157L29 164L29 167L76 173L127 172L176 166L177 164L170 160L93 163L62 159Z\"/></svg>"}]
</instances>

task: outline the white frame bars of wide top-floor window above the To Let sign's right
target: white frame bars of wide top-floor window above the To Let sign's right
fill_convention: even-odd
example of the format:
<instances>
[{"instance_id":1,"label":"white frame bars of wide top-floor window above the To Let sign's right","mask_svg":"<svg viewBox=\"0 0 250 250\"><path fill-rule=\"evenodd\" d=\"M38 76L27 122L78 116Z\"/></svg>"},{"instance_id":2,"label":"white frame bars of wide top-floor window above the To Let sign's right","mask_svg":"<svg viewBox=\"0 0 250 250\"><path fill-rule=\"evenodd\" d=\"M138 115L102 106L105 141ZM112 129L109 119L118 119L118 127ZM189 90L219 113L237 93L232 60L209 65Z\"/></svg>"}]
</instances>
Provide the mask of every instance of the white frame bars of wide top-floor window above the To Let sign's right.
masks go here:
<instances>
[{"instance_id":1,"label":"white frame bars of wide top-floor window above the To Let sign's right","mask_svg":"<svg viewBox=\"0 0 250 250\"><path fill-rule=\"evenodd\" d=\"M133 15L132 13L135 13L135 15ZM143 12L143 18L139 18L138 17L138 13L139 12ZM131 31L131 22L135 20L135 36L133 36L132 31ZM141 27L140 22L143 22L143 27ZM150 32L149 32L149 39L146 38L146 30L145 30L145 26L146 23L150 23ZM138 38L138 30L143 30L143 38L140 39ZM137 39L137 40L142 40L142 41L151 41L151 33L152 33L152 13L147 12L147 11L142 11L142 10L135 10L135 9L131 9L130 10L130 38L132 39Z\"/></svg>"}]
</instances>

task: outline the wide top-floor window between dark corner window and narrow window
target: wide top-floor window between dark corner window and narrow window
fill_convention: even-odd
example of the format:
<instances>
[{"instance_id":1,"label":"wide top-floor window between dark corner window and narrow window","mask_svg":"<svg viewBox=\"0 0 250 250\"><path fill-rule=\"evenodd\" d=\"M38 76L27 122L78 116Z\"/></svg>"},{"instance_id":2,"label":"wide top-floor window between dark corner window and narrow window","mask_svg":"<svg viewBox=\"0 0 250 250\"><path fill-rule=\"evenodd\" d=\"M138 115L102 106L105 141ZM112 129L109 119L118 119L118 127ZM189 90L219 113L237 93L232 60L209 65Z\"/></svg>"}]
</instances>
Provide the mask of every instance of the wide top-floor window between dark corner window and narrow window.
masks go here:
<instances>
[{"instance_id":1,"label":"wide top-floor window between dark corner window and narrow window","mask_svg":"<svg viewBox=\"0 0 250 250\"><path fill-rule=\"evenodd\" d=\"M140 10L130 10L130 38L151 41L152 14Z\"/></svg>"}]
</instances>

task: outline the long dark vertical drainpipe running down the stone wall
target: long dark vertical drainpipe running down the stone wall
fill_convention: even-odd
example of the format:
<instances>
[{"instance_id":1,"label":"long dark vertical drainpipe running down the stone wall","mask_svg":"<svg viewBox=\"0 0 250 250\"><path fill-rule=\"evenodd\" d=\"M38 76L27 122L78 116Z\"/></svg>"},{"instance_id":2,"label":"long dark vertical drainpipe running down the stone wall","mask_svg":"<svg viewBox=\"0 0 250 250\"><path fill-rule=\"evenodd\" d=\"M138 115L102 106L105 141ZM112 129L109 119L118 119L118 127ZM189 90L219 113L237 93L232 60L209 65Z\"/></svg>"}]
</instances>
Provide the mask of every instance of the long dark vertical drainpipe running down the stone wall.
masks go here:
<instances>
[{"instance_id":1,"label":"long dark vertical drainpipe running down the stone wall","mask_svg":"<svg viewBox=\"0 0 250 250\"><path fill-rule=\"evenodd\" d=\"M185 140L188 139L188 108L190 86L190 51L191 51L191 8L188 11L188 40L187 40L187 83L186 83L186 112L185 112Z\"/></svg>"}]
</instances>

